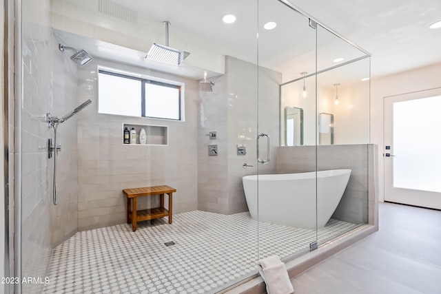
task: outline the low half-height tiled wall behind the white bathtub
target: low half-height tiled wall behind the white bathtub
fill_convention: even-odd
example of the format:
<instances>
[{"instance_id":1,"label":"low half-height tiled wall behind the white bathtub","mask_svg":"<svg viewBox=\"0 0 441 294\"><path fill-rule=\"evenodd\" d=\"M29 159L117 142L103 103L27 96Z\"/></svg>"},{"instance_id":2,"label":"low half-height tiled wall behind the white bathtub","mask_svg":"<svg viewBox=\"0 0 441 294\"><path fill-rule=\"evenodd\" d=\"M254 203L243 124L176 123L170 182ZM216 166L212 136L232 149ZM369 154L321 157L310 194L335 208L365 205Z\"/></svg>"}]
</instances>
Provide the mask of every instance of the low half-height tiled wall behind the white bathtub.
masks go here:
<instances>
[{"instance_id":1,"label":"low half-height tiled wall behind the white bathtub","mask_svg":"<svg viewBox=\"0 0 441 294\"><path fill-rule=\"evenodd\" d=\"M353 224L373 224L376 201L376 146L322 145L280 147L278 174L351 169L347 189L331 218ZM369 211L368 211L369 209Z\"/></svg>"}]
</instances>

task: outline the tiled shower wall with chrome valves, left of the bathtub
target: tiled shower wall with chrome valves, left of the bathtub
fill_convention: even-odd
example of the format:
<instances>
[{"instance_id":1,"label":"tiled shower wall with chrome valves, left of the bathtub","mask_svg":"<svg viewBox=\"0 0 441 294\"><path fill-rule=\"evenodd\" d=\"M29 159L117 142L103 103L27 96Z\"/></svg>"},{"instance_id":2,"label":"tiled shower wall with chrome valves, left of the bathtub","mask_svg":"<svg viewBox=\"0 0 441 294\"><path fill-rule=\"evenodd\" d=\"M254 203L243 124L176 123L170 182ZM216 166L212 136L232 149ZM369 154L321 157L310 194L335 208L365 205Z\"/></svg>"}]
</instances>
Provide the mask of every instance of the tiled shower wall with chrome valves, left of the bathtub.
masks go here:
<instances>
[{"instance_id":1,"label":"tiled shower wall with chrome valves, left of the bathtub","mask_svg":"<svg viewBox=\"0 0 441 294\"><path fill-rule=\"evenodd\" d=\"M198 125L198 209L216 213L247 211L242 177L276 171L279 145L279 85L282 75L273 70L226 56L225 74L211 78L213 92L201 92ZM259 129L257 128L259 127ZM207 134L217 132L216 140ZM271 157L256 162L256 136L271 137ZM237 145L247 154L238 155ZM218 156L208 156L207 145L218 145ZM267 158L266 137L260 138L260 158ZM243 168L243 164L253 167Z\"/></svg>"}]
</instances>

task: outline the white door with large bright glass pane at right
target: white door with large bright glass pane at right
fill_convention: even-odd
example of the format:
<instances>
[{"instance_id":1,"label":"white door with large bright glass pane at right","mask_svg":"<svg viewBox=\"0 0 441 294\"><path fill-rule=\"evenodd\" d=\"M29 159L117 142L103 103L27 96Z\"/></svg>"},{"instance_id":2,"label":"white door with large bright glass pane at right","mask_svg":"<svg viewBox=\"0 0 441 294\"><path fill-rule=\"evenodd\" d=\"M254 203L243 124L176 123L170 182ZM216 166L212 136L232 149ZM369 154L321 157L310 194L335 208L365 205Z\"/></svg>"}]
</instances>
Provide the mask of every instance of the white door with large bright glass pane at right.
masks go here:
<instances>
[{"instance_id":1,"label":"white door with large bright glass pane at right","mask_svg":"<svg viewBox=\"0 0 441 294\"><path fill-rule=\"evenodd\" d=\"M384 200L441 209L441 88L384 98Z\"/></svg>"}]
</instances>

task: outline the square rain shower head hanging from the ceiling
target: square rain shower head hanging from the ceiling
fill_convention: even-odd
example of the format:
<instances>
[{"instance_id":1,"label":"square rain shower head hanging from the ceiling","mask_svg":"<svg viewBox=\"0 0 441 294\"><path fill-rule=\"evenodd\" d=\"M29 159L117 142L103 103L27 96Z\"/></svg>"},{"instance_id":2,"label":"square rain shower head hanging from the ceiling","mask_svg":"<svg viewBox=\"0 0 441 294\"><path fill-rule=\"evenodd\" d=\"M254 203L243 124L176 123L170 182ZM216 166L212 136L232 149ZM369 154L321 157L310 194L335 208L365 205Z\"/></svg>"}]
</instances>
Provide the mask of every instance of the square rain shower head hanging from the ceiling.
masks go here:
<instances>
[{"instance_id":1,"label":"square rain shower head hanging from the ceiling","mask_svg":"<svg viewBox=\"0 0 441 294\"><path fill-rule=\"evenodd\" d=\"M170 25L170 22L163 21L163 23L165 23L165 45L153 43L149 52L145 56L145 59L150 59L152 61L158 61L171 65L180 65L184 61L184 59L189 56L189 52L169 47L168 26Z\"/></svg>"}]
</instances>

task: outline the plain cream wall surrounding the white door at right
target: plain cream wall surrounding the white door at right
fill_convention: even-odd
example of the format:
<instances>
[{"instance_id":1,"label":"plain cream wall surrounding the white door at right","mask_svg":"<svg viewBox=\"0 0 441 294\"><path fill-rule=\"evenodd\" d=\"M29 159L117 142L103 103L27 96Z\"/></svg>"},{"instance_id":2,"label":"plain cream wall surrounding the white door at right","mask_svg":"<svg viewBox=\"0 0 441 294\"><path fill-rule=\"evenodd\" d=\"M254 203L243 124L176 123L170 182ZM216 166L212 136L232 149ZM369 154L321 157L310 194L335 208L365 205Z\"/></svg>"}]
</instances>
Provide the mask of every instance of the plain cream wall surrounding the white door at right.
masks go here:
<instances>
[{"instance_id":1,"label":"plain cream wall surrounding the white door at right","mask_svg":"<svg viewBox=\"0 0 441 294\"><path fill-rule=\"evenodd\" d=\"M441 87L441 63L371 81L371 143L378 144L379 200L384 201L384 97Z\"/></svg>"}]
</instances>

